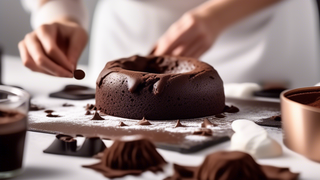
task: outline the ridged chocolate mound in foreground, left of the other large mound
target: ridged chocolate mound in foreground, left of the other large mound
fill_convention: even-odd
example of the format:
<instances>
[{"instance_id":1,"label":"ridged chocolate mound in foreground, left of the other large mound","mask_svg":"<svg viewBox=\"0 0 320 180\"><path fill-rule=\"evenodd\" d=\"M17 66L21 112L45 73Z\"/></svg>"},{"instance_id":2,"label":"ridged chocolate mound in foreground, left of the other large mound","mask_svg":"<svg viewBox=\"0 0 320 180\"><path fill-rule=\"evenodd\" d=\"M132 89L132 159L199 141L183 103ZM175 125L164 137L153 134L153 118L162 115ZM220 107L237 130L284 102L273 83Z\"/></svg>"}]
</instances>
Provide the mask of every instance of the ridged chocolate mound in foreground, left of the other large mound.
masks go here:
<instances>
[{"instance_id":1,"label":"ridged chocolate mound in foreground, left of the other large mound","mask_svg":"<svg viewBox=\"0 0 320 180\"><path fill-rule=\"evenodd\" d=\"M153 143L146 139L134 139L116 140L104 151L100 163L83 167L94 169L108 178L116 178L139 175L147 170L162 171L165 164Z\"/></svg>"}]
</instances>

